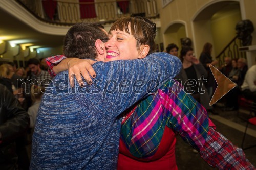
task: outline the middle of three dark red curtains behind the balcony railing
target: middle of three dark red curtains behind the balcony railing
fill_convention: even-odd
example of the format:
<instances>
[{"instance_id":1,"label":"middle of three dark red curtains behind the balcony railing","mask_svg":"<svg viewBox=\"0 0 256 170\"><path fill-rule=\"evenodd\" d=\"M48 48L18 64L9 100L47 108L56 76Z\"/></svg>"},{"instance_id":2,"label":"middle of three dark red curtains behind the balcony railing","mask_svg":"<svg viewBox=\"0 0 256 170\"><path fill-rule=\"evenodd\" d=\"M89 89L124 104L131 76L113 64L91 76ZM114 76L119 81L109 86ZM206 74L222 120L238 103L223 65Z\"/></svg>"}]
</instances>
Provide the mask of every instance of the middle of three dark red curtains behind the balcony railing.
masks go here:
<instances>
[{"instance_id":1,"label":"middle of three dark red curtains behind the balcony railing","mask_svg":"<svg viewBox=\"0 0 256 170\"><path fill-rule=\"evenodd\" d=\"M94 0L79 0L80 3L93 2ZM83 18L96 18L96 11L94 4L80 4L80 16Z\"/></svg>"}]
</instances>

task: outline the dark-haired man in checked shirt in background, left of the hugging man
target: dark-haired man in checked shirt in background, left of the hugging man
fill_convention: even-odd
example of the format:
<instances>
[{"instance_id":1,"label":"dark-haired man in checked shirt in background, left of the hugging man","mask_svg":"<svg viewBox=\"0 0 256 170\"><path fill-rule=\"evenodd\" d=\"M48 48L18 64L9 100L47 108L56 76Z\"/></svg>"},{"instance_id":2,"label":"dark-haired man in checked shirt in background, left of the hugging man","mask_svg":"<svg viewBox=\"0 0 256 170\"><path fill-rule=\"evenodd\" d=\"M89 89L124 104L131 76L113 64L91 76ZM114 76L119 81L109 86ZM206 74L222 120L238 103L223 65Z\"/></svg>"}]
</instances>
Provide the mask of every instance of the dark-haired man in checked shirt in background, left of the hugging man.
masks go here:
<instances>
[{"instance_id":1,"label":"dark-haired man in checked shirt in background, left of the hugging man","mask_svg":"<svg viewBox=\"0 0 256 170\"><path fill-rule=\"evenodd\" d=\"M51 81L51 76L47 71L41 70L40 61L36 58L31 58L28 60L28 67L31 71L31 83L34 83L36 86L45 87ZM48 83L47 83L48 82Z\"/></svg>"}]
</instances>

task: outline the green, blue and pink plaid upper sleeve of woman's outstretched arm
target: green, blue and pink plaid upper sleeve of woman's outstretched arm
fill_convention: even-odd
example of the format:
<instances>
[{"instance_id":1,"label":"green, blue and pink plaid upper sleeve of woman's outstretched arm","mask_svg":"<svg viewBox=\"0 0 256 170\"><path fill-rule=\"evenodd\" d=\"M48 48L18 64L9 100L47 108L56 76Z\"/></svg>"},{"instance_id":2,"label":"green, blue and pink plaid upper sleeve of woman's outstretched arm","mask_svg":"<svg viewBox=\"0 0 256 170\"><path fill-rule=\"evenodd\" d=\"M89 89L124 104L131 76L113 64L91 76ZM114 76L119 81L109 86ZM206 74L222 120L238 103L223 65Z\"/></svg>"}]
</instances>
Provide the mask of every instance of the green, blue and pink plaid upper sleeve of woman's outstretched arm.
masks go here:
<instances>
[{"instance_id":1,"label":"green, blue and pink plaid upper sleeve of woman's outstretched arm","mask_svg":"<svg viewBox=\"0 0 256 170\"><path fill-rule=\"evenodd\" d=\"M168 118L167 126L200 151L207 138L209 124L205 108L177 81L169 81L159 88L162 107Z\"/></svg>"}]
</instances>

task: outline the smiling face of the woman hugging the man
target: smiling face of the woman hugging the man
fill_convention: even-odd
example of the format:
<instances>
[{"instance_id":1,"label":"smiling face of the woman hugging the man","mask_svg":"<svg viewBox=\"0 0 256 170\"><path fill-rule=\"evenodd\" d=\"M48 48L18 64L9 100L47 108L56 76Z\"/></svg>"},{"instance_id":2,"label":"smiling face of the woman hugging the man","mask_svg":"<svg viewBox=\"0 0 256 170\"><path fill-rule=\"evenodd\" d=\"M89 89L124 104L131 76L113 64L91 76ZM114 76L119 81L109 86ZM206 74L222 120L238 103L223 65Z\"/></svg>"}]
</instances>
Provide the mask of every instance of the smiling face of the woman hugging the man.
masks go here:
<instances>
[{"instance_id":1,"label":"smiling face of the woman hugging the man","mask_svg":"<svg viewBox=\"0 0 256 170\"><path fill-rule=\"evenodd\" d=\"M105 62L114 60L138 59L137 40L134 36L121 30L112 30L105 43Z\"/></svg>"}]
</instances>

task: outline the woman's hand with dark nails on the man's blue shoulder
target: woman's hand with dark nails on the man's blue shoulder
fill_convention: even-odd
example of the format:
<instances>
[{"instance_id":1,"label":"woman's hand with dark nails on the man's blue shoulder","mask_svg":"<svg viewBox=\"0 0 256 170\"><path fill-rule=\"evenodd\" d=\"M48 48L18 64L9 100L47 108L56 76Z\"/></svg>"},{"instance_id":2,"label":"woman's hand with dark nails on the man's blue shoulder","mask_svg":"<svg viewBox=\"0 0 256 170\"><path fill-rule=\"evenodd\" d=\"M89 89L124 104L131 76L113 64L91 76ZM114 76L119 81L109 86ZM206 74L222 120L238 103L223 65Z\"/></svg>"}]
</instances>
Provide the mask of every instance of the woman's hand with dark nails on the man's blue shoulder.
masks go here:
<instances>
[{"instance_id":1,"label":"woman's hand with dark nails on the man's blue shoulder","mask_svg":"<svg viewBox=\"0 0 256 170\"><path fill-rule=\"evenodd\" d=\"M89 60L89 59L79 59L79 58L72 58L68 61L68 68L69 68L69 81L71 87L74 87L74 77L76 77L79 85L81 87L84 86L82 77L86 79L88 84L92 84L92 79L89 74L95 78L96 73L92 67L94 63L97 61Z\"/></svg>"}]
</instances>

